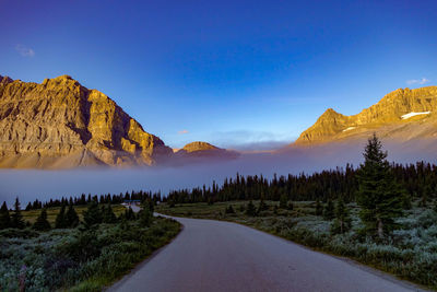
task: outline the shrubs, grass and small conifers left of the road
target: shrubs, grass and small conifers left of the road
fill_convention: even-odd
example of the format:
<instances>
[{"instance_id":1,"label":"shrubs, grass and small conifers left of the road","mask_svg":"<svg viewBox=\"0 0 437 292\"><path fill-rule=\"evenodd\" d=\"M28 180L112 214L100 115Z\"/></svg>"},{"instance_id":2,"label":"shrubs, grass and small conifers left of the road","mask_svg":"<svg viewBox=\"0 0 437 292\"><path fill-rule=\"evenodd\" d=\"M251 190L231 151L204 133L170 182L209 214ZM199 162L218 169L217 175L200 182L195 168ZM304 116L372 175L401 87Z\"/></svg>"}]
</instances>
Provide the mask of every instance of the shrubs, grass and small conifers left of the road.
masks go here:
<instances>
[{"instance_id":1,"label":"shrubs, grass and small conifers left of the road","mask_svg":"<svg viewBox=\"0 0 437 292\"><path fill-rule=\"evenodd\" d=\"M0 291L102 291L175 237L180 224L93 200L21 211L0 209Z\"/></svg>"}]
</instances>

